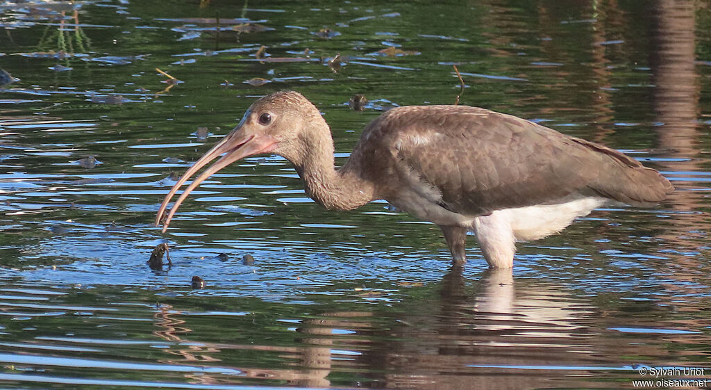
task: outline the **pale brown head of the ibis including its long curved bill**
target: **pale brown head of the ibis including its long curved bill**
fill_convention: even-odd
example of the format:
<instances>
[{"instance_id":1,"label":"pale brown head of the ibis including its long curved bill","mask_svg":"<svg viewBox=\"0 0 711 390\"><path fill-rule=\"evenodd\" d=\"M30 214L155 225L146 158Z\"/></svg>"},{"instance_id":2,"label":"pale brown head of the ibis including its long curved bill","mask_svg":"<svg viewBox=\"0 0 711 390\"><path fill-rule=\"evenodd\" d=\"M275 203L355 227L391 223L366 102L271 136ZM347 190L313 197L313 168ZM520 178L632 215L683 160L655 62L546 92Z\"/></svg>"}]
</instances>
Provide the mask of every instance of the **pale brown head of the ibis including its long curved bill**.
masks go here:
<instances>
[{"instance_id":1,"label":"pale brown head of the ibis including its long curved bill","mask_svg":"<svg viewBox=\"0 0 711 390\"><path fill-rule=\"evenodd\" d=\"M233 162L255 154L280 154L290 161L296 162L304 155L303 139L308 138L305 137L305 134L320 122L323 122L324 125L326 123L316 106L300 93L294 91L277 92L257 100L247 109L237 127L198 159L173 185L158 211L156 226L161 224L169 202L183 183L216 157L224 154L193 180L183 191L183 194L178 197L164 220L164 232L178 206L205 179Z\"/></svg>"}]
</instances>

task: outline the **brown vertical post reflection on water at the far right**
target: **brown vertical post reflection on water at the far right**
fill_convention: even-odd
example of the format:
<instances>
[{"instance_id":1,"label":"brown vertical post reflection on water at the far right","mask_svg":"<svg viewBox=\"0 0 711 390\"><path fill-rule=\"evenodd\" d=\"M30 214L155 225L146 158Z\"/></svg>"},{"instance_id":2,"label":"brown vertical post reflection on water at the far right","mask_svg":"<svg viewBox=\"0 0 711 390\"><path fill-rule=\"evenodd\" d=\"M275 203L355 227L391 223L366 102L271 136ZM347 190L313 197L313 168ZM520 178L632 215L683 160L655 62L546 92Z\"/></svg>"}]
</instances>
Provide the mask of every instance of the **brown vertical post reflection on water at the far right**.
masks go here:
<instances>
[{"instance_id":1,"label":"brown vertical post reflection on water at the far right","mask_svg":"<svg viewBox=\"0 0 711 390\"><path fill-rule=\"evenodd\" d=\"M658 0L652 3L650 12L654 22L650 51L653 108L657 122L663 124L658 127L658 139L667 149L665 155L675 157L662 165L668 171L682 172L673 174L679 180L674 182L677 191L670 196L671 207L682 213L670 218L674 228L664 238L683 251L700 244L690 231L703 231L709 223L707 217L688 214L707 203L703 193L693 191L697 183L685 180L693 177L693 172L704 170L697 122L700 80L695 68L695 1ZM677 260L696 263L690 257Z\"/></svg>"}]
</instances>

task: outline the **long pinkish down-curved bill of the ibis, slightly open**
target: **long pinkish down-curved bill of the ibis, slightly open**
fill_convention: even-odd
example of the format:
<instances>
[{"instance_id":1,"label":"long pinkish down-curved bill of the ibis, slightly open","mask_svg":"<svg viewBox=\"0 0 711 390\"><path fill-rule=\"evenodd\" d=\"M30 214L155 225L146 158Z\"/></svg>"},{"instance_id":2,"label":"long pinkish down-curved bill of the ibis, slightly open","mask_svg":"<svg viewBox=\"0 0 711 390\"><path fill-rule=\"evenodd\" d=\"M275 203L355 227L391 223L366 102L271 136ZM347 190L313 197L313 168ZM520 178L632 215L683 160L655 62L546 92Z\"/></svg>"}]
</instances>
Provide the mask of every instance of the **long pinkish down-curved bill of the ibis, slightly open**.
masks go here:
<instances>
[{"instance_id":1,"label":"long pinkish down-curved bill of the ibis, slightly open","mask_svg":"<svg viewBox=\"0 0 711 390\"><path fill-rule=\"evenodd\" d=\"M175 185L173 185L171 191L168 193L168 195L166 195L166 198L163 199L161 208L158 210L158 215L156 215L156 226L161 225L161 221L164 220L163 217L168 207L168 204L170 203L171 199L173 199L173 196L176 194L176 192L178 192L178 189L180 189L183 183L190 179L191 176L196 174L202 167L205 167L205 165L213 161L215 157L218 157L220 154L225 154L222 158L218 159L215 164L212 164L210 165L210 167L208 167L208 169L205 169L205 172L198 176L197 179L193 180L193 182L188 186L188 188L183 191L183 194L178 197L178 200L170 209L168 216L165 217L165 220L163 222L163 233L165 233L168 229L168 225L171 223L171 218L173 218L173 215L176 214L178 207L183 203L183 201L185 201L185 199L188 197L188 194L190 194L193 189L196 189L196 187L199 186L203 181L205 181L205 179L208 179L208 177L220 171L220 169L223 169L224 167L227 167L228 165L240 159L250 157L255 154L272 152L274 146L276 145L276 141L274 140L274 138L269 135L248 135L244 131L238 130L240 130L239 127L235 130L232 130L232 132L225 136L222 141L218 142L218 144L216 144L212 149L205 153L203 157L198 159L195 164L188 168L188 171L185 172L183 176L181 176L181 178Z\"/></svg>"}]
</instances>

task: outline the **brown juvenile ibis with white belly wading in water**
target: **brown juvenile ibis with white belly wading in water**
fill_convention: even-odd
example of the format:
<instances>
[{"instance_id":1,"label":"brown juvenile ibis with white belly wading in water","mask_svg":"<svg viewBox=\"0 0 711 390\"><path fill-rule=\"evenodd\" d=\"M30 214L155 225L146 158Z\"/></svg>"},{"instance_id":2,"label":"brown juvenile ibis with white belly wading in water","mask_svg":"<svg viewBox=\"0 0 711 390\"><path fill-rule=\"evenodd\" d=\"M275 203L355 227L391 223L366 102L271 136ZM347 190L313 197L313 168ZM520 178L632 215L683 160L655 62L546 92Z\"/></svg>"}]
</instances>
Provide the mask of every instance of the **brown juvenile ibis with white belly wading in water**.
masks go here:
<instances>
[{"instance_id":1,"label":"brown juvenile ibis with white belly wading in water","mask_svg":"<svg viewBox=\"0 0 711 390\"><path fill-rule=\"evenodd\" d=\"M165 232L193 189L255 154L288 159L306 194L326 209L352 210L376 199L437 224L454 264L466 263L474 231L493 268L513 267L516 241L561 231L611 202L651 206L673 186L636 159L511 115L464 105L397 107L365 127L351 157L334 168L331 130L300 93L254 102L239 125L179 179L161 204ZM216 157L183 191L178 189Z\"/></svg>"}]
</instances>

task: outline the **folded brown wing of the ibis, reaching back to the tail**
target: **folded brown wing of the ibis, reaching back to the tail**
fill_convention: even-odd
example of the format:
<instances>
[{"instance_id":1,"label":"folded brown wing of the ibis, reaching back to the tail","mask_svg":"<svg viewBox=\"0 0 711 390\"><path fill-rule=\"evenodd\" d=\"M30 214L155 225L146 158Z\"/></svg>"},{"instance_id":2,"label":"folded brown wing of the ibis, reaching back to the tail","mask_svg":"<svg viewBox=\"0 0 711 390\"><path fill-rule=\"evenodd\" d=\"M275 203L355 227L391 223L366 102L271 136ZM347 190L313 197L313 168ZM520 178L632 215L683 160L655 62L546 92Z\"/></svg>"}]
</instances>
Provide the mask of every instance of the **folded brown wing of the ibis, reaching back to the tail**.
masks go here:
<instances>
[{"instance_id":1,"label":"folded brown wing of the ibis, reaching back to the tail","mask_svg":"<svg viewBox=\"0 0 711 390\"><path fill-rule=\"evenodd\" d=\"M442 206L460 214L580 195L653 204L673 189L613 149L481 108L403 107L380 121L400 174L419 181L424 195L438 191Z\"/></svg>"}]
</instances>

